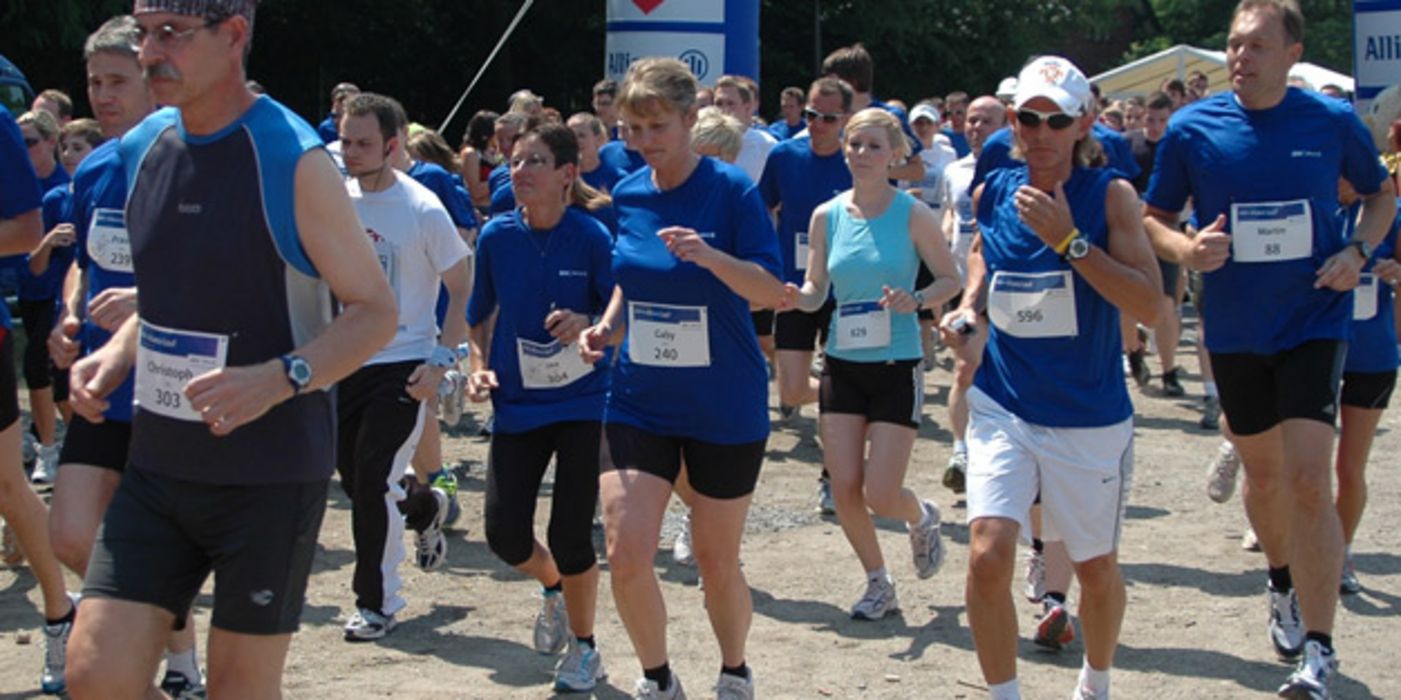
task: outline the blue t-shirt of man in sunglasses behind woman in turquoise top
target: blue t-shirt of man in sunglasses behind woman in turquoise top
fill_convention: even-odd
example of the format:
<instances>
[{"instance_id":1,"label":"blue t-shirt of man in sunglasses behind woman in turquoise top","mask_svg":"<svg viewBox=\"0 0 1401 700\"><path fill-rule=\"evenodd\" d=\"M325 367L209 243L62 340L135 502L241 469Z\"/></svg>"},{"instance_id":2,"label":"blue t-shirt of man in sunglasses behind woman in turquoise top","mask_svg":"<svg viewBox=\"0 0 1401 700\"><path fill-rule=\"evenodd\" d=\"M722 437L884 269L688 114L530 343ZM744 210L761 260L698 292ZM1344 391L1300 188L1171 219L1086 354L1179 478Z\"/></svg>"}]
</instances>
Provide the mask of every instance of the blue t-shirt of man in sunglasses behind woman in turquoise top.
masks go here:
<instances>
[{"instance_id":1,"label":"blue t-shirt of man in sunglasses behind woman in turquoise top","mask_svg":"<svg viewBox=\"0 0 1401 700\"><path fill-rule=\"evenodd\" d=\"M831 155L813 153L810 139L783 141L769 151L759 178L759 195L769 209L779 209L779 255L783 280L803 284L807 270L808 232L813 210L852 186L842 150Z\"/></svg>"}]
</instances>

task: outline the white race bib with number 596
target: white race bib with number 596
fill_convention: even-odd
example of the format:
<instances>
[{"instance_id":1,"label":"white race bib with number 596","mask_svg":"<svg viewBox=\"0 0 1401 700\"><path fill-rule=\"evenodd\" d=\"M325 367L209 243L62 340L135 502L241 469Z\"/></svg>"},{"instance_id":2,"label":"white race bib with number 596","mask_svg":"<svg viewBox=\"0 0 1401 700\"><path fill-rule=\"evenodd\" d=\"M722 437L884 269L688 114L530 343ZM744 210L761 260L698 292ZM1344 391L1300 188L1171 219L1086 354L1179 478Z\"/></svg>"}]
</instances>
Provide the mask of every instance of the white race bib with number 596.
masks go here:
<instances>
[{"instance_id":1,"label":"white race bib with number 596","mask_svg":"<svg viewBox=\"0 0 1401 700\"><path fill-rule=\"evenodd\" d=\"M1075 280L1070 270L992 276L988 318L998 330L1016 337L1073 337Z\"/></svg>"}]
</instances>

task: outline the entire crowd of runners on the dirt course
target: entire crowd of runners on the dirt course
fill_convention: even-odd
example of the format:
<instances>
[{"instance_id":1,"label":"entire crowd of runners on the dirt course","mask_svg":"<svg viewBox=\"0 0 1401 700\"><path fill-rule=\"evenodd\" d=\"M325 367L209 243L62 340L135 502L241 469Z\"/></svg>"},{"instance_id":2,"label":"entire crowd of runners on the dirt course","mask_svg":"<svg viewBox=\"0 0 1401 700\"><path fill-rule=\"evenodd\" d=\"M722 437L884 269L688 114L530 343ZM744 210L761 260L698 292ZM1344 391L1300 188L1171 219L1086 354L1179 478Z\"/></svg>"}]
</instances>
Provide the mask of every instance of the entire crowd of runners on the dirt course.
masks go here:
<instances>
[{"instance_id":1,"label":"entire crowd of runners on the dirt course","mask_svg":"<svg viewBox=\"0 0 1401 700\"><path fill-rule=\"evenodd\" d=\"M461 512L440 421L490 402L485 538L541 587L532 643L559 655L553 687L605 676L602 554L636 697L685 697L653 566L675 496L670 546L703 581L715 694L754 697L741 535L771 420L817 405L815 507L862 567L850 616L880 620L899 602L873 515L905 521L916 578L944 560L940 510L905 475L946 353L943 484L967 497L988 694L1021 696L1014 587L1042 606L1035 643L1062 648L1077 580L1068 692L1104 700L1126 381L1187 393L1173 353L1189 291L1201 426L1226 438L1203 455L1208 496L1244 470L1261 636L1293 664L1279 694L1330 697L1398 365L1379 151L1401 150L1401 120L1379 144L1335 90L1290 84L1293 0L1237 6L1217 94L1192 74L1103 99L1037 56L992 94L906 106L874 97L853 45L766 125L754 80L702 85L642 59L593 87L591 112L523 90L475 113L458 150L350 83L318 127L263 95L244 69L255 6L136 0L87 39L94 119L52 90L0 113L0 252L25 330L22 353L0 333L0 507L6 561L42 591L45 693L279 697L333 475L354 540L345 640L391 634L406 531L433 570ZM27 480L52 483L48 507ZM191 608L210 574L200 664Z\"/></svg>"}]
</instances>

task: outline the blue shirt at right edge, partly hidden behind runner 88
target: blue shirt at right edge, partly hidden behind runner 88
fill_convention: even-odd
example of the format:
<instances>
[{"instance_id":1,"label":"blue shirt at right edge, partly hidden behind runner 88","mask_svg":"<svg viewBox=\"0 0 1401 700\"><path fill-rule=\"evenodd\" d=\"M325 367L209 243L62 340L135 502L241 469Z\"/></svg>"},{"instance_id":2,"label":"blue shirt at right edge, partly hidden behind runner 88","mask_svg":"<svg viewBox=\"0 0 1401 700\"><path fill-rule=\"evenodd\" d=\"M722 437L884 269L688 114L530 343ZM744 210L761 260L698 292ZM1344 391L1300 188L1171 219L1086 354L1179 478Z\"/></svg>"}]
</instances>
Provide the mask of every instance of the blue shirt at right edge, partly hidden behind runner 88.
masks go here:
<instances>
[{"instance_id":1,"label":"blue shirt at right edge, partly hidden behind runner 88","mask_svg":"<svg viewBox=\"0 0 1401 700\"><path fill-rule=\"evenodd\" d=\"M1401 203L1401 202L1398 202ZM1344 217L1344 239L1351 239L1356 227L1360 204L1339 210ZM1372 253L1362 269L1362 284L1352 290L1352 325L1348 337L1348 361L1344 372L1390 372L1401 365L1397 353L1395 290L1372 274L1377 260L1395 255L1397 231L1401 230L1401 216L1391 223L1391 231Z\"/></svg>"}]
</instances>

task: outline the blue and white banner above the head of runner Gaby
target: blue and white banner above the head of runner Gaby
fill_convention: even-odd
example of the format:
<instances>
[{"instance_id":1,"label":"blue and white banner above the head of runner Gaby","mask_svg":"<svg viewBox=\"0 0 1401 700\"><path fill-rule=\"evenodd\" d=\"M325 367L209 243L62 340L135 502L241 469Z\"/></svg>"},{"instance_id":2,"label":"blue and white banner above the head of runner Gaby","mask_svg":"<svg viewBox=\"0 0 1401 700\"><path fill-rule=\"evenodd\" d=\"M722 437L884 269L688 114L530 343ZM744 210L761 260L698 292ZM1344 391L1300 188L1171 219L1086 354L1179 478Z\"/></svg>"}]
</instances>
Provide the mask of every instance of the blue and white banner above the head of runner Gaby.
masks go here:
<instances>
[{"instance_id":1,"label":"blue and white banner above the head of runner Gaby","mask_svg":"<svg viewBox=\"0 0 1401 700\"><path fill-rule=\"evenodd\" d=\"M621 81L647 56L679 59L706 85L759 80L759 0L608 0L604 73Z\"/></svg>"}]
</instances>

